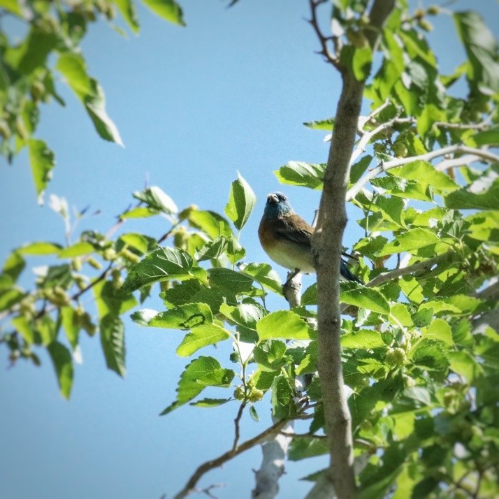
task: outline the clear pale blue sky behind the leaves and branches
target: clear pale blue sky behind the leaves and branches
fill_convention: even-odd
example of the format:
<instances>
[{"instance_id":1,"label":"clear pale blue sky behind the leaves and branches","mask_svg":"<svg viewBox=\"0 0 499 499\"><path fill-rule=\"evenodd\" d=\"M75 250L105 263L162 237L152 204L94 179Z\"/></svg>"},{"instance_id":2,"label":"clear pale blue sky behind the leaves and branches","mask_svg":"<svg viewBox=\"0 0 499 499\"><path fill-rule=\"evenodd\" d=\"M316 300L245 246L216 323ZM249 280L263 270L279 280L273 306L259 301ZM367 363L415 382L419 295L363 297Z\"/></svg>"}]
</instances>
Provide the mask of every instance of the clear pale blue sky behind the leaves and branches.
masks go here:
<instances>
[{"instance_id":1,"label":"clear pale blue sky behind the leaves and branches","mask_svg":"<svg viewBox=\"0 0 499 499\"><path fill-rule=\"evenodd\" d=\"M248 261L268 262L256 227L269 191L286 191L295 210L311 220L319 192L279 186L273 175L289 160L325 161L324 134L302 123L333 115L340 93L333 68L313 53L318 42L304 21L307 5L304 0L241 0L226 10L218 0L185 0L187 28L167 24L145 8L139 8L139 36L124 39L103 23L91 27L83 44L89 73L106 91L108 113L125 148L96 136L80 103L62 84L66 108L45 106L38 129L38 137L57 154L48 194L64 196L78 209L100 210L78 231L106 231L146 180L180 208L196 203L223 212L237 171L258 196L241 236ZM490 23L498 19L493 0L456 1L453 8L470 6ZM451 71L461 58L461 45L449 18L435 24L433 47L441 67ZM498 36L497 27L491 29ZM0 175L1 259L30 240L63 243L61 219L36 204L26 155L2 166ZM349 211L347 246L361 236L354 222L358 217ZM152 219L127 223L125 229L159 237L168 226ZM283 269L276 270L284 277ZM311 282L305 277L305 284ZM3 351L0 497L171 497L197 465L229 449L235 403L218 410L182 407L157 416L173 400L187 363L175 356L180 340L180 333L127 323L123 380L106 370L99 340L82 335L83 363L76 368L69 402L59 396L46 356L41 368L18 363L8 369ZM244 419L243 438L268 424L268 408L261 411L261 424ZM215 491L220 498L247 496L260 459L254 449L201 485L224 482L227 486ZM296 479L325 462L289 463L280 497L303 496L309 486Z\"/></svg>"}]
</instances>

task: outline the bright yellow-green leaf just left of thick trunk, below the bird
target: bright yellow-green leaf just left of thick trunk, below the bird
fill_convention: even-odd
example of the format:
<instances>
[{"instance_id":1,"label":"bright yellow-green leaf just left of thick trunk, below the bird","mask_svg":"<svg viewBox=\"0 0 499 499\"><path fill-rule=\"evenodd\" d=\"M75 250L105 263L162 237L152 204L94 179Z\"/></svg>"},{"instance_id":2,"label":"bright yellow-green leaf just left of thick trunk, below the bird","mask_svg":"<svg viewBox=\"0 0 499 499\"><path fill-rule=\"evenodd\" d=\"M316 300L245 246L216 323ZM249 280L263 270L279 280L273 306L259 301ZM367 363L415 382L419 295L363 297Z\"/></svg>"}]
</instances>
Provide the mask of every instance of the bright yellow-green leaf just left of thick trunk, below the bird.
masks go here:
<instances>
[{"instance_id":1,"label":"bright yellow-green leaf just left of thick trunk, below the bird","mask_svg":"<svg viewBox=\"0 0 499 499\"><path fill-rule=\"evenodd\" d=\"M270 338L284 340L310 340L308 324L290 310L271 312L256 323L256 332L260 341Z\"/></svg>"}]
</instances>

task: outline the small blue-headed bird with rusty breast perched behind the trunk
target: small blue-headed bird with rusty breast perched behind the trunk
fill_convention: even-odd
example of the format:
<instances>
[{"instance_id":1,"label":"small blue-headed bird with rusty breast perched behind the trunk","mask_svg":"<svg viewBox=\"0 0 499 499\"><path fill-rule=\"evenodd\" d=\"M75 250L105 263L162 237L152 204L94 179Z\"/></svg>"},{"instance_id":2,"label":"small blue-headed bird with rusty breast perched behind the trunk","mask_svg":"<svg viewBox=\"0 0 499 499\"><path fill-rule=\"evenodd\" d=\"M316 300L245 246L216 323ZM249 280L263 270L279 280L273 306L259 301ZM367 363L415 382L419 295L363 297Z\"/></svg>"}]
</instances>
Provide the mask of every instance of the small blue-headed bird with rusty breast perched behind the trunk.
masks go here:
<instances>
[{"instance_id":1,"label":"small blue-headed bird with rusty breast perched behind the trunk","mask_svg":"<svg viewBox=\"0 0 499 499\"><path fill-rule=\"evenodd\" d=\"M278 265L305 274L315 273L312 256L314 228L297 215L282 192L271 192L258 228L261 247ZM287 283L294 277L292 275ZM349 281L363 282L340 260L340 275Z\"/></svg>"}]
</instances>

